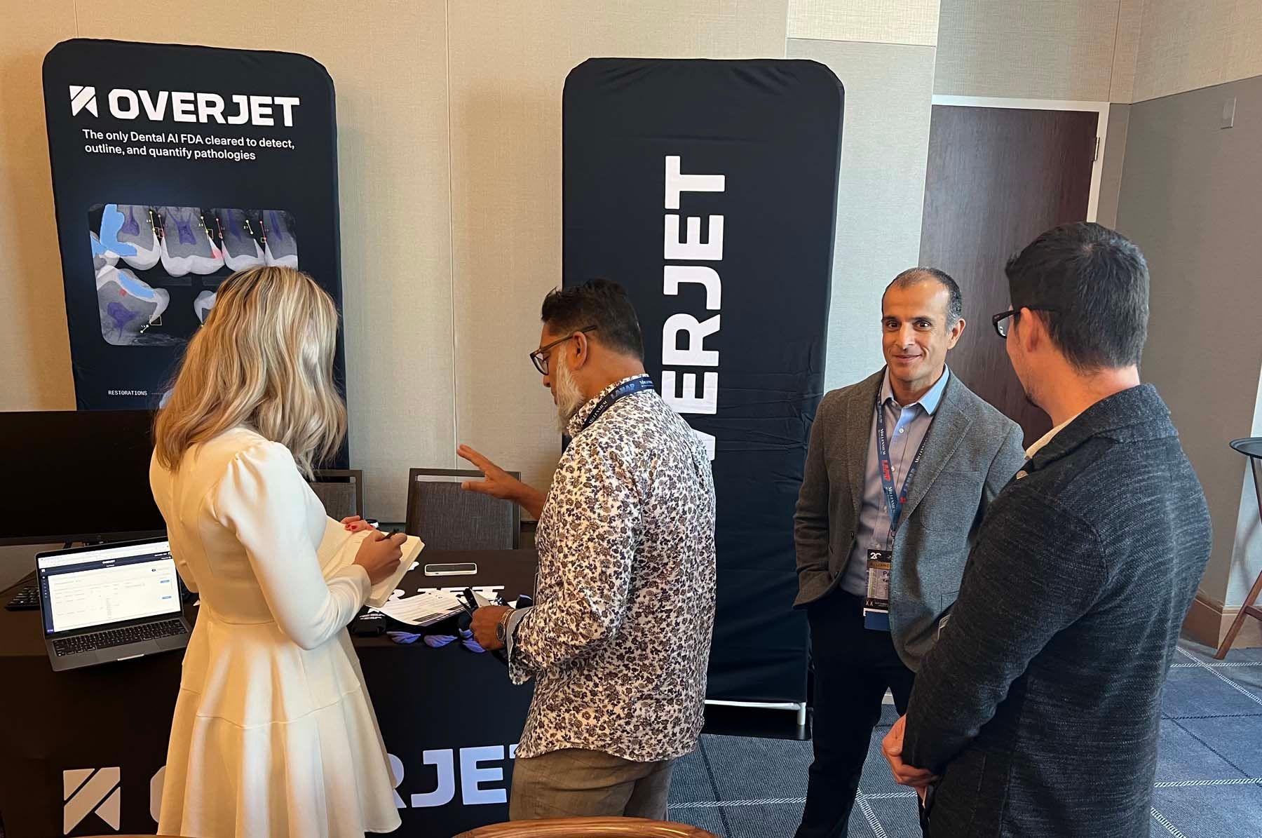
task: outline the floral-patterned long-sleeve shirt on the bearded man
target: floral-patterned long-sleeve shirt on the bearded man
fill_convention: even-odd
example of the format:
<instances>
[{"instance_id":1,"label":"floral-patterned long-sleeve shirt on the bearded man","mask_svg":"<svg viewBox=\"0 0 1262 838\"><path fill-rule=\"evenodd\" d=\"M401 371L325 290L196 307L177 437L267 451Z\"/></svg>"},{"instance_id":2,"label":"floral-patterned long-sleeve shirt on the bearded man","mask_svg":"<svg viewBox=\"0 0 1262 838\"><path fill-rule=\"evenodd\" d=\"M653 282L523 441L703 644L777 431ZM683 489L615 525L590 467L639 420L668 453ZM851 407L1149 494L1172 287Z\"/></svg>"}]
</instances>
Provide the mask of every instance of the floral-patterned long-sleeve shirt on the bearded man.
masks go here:
<instances>
[{"instance_id":1,"label":"floral-patterned long-sleeve shirt on the bearded man","mask_svg":"<svg viewBox=\"0 0 1262 838\"><path fill-rule=\"evenodd\" d=\"M535 605L509 623L509 674L535 678L519 757L560 748L651 762L703 722L714 626L714 481L692 428L652 390L583 423L539 516Z\"/></svg>"}]
</instances>

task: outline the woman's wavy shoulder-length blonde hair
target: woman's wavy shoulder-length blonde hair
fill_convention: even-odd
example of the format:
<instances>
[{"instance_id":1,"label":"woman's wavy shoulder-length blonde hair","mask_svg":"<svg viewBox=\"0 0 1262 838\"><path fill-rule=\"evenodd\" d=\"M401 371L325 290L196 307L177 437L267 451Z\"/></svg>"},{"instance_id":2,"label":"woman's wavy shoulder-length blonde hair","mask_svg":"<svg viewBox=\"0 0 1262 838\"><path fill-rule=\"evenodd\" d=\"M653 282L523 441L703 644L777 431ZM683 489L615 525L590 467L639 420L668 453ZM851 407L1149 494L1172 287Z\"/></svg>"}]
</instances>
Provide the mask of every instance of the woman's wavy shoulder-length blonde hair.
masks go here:
<instances>
[{"instance_id":1,"label":"woman's wavy shoulder-length blonde hair","mask_svg":"<svg viewBox=\"0 0 1262 838\"><path fill-rule=\"evenodd\" d=\"M337 307L307 274L251 268L220 285L154 424L158 462L179 468L189 447L245 425L312 461L337 451L346 405L333 385Z\"/></svg>"}]
</instances>

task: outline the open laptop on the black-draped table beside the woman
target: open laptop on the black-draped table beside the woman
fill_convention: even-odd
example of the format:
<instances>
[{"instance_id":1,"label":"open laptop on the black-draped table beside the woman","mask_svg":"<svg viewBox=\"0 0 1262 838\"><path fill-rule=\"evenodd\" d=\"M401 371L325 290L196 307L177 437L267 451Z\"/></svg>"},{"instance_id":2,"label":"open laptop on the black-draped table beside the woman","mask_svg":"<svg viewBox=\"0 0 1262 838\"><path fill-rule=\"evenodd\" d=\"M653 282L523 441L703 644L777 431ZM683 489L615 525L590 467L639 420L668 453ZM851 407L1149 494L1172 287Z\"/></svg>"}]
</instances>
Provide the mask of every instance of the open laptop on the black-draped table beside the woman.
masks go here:
<instances>
[{"instance_id":1,"label":"open laptop on the black-draped table beside the woman","mask_svg":"<svg viewBox=\"0 0 1262 838\"><path fill-rule=\"evenodd\" d=\"M40 553L35 568L53 670L188 645L192 630L165 539Z\"/></svg>"}]
</instances>

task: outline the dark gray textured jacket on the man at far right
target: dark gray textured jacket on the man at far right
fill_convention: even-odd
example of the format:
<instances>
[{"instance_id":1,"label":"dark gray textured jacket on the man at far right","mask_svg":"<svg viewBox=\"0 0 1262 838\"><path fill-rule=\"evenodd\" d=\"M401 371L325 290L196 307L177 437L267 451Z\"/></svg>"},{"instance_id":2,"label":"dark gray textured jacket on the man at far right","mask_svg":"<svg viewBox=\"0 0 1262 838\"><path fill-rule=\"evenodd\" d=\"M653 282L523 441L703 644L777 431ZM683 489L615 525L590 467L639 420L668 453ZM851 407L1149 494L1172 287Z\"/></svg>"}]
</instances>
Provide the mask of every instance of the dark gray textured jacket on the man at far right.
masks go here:
<instances>
[{"instance_id":1,"label":"dark gray textured jacket on the man at far right","mask_svg":"<svg viewBox=\"0 0 1262 838\"><path fill-rule=\"evenodd\" d=\"M1161 689L1209 511L1152 386L1097 403L991 505L911 693L933 838L1148 834Z\"/></svg>"}]
</instances>

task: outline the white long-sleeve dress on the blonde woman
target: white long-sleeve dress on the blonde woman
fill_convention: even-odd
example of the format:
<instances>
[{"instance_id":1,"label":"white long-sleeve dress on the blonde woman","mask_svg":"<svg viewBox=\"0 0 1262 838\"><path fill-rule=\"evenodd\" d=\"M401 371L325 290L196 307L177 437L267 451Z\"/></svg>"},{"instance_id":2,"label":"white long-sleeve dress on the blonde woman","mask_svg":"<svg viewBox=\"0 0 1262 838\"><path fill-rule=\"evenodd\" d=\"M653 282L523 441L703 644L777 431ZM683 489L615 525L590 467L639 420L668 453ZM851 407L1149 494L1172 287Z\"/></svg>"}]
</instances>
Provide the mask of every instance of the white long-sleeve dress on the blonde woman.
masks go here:
<instances>
[{"instance_id":1,"label":"white long-sleeve dress on the blonde woman","mask_svg":"<svg viewBox=\"0 0 1262 838\"><path fill-rule=\"evenodd\" d=\"M363 568L326 578L327 516L284 446L237 428L150 467L172 555L198 592L158 832L342 838L400 824L346 625Z\"/></svg>"}]
</instances>

